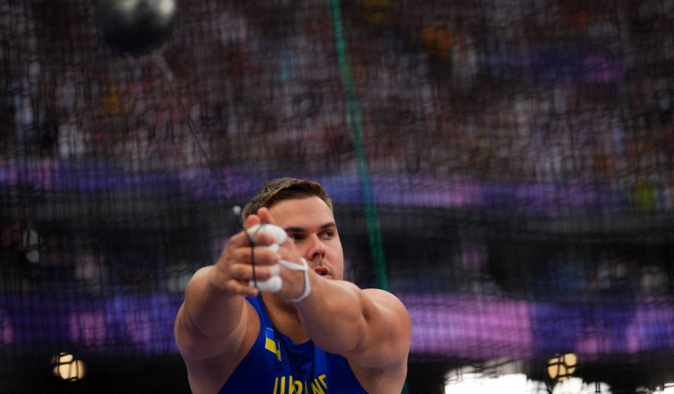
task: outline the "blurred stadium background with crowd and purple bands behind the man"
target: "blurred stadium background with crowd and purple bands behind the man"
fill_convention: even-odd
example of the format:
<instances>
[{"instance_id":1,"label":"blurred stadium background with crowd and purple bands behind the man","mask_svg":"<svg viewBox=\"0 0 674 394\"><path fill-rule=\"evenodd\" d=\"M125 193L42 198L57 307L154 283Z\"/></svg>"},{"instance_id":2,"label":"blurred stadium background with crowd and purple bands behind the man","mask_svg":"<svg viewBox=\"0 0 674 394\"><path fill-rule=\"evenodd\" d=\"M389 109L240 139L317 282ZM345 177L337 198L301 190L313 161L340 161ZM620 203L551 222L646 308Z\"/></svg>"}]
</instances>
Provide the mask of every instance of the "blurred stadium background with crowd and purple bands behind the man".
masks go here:
<instances>
[{"instance_id":1,"label":"blurred stadium background with crowd and purple bands behind the man","mask_svg":"<svg viewBox=\"0 0 674 394\"><path fill-rule=\"evenodd\" d=\"M407 304L410 393L665 392L673 22L671 0L190 0L130 57L92 1L0 0L0 392L188 392L186 281L273 176L322 182L348 278Z\"/></svg>"}]
</instances>

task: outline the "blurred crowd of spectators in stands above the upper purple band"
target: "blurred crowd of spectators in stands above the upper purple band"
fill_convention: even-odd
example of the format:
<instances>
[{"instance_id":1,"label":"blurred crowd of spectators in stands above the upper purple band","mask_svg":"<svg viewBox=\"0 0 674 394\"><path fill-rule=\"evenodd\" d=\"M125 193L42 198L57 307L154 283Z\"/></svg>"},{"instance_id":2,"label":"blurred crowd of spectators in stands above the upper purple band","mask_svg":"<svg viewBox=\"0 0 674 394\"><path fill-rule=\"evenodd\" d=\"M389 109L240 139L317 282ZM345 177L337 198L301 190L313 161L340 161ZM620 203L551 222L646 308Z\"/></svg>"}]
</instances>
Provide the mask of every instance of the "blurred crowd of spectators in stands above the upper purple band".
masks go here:
<instances>
[{"instance_id":1,"label":"blurred crowd of spectators in stands above the upper purple band","mask_svg":"<svg viewBox=\"0 0 674 394\"><path fill-rule=\"evenodd\" d=\"M131 57L91 1L0 0L0 167L352 174L362 153L371 173L582 180L674 205L674 1L333 3L178 2L173 39ZM108 283L82 243L67 275ZM497 289L466 256L464 285Z\"/></svg>"}]
</instances>

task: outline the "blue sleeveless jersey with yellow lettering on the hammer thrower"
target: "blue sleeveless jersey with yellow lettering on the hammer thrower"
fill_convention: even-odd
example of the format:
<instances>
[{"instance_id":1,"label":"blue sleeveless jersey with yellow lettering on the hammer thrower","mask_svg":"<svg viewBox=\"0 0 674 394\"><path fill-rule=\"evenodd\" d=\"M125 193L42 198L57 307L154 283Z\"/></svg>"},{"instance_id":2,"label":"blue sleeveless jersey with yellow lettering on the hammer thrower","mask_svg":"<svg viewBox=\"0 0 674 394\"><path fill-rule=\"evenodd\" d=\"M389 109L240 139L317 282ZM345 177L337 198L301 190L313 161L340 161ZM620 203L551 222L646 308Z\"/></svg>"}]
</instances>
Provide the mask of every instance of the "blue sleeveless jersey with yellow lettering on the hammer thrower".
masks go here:
<instances>
[{"instance_id":1,"label":"blue sleeveless jersey with yellow lettering on the hammer thrower","mask_svg":"<svg viewBox=\"0 0 674 394\"><path fill-rule=\"evenodd\" d=\"M260 333L220 394L367 394L344 357L311 340L294 344L272 326L262 297L246 299L260 316Z\"/></svg>"}]
</instances>

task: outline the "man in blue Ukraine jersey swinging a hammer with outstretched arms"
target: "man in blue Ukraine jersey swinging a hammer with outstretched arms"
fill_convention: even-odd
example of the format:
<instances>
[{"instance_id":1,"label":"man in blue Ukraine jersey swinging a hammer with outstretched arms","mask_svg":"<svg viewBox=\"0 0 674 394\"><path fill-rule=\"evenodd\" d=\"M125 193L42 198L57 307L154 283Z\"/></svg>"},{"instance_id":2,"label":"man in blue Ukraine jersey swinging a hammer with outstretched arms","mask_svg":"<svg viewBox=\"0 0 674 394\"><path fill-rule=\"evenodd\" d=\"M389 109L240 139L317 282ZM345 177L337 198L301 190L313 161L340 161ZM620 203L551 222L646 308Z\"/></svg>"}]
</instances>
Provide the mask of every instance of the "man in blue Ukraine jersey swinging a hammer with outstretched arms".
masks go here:
<instances>
[{"instance_id":1,"label":"man in blue Ukraine jersey swinging a hammer with outstretched arms","mask_svg":"<svg viewBox=\"0 0 674 394\"><path fill-rule=\"evenodd\" d=\"M232 236L215 265L194 274L177 313L193 393L401 392L409 314L392 294L342 280L340 237L323 187L273 180L243 216L249 234ZM273 236L251 228L262 223L285 230L278 250L264 247ZM280 288L255 287L275 275Z\"/></svg>"}]
</instances>

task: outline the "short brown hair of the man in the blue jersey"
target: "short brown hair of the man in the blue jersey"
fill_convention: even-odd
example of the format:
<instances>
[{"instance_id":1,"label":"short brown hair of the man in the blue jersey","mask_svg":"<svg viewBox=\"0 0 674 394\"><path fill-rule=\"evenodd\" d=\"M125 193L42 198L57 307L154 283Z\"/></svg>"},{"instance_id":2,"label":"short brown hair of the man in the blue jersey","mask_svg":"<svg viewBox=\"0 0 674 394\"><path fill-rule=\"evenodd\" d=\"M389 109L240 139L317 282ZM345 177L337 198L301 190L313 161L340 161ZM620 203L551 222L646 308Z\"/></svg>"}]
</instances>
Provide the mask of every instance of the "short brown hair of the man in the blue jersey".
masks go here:
<instances>
[{"instance_id":1,"label":"short brown hair of the man in the blue jersey","mask_svg":"<svg viewBox=\"0 0 674 394\"><path fill-rule=\"evenodd\" d=\"M253 199L246 204L241 216L246 219L257 213L260 208L270 208L279 201L305 199L313 196L323 200L328 208L333 210L333 201L318 182L289 177L273 179L265 183L262 189L253 196Z\"/></svg>"}]
</instances>

